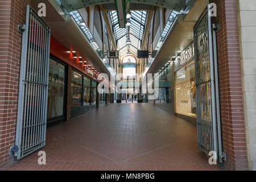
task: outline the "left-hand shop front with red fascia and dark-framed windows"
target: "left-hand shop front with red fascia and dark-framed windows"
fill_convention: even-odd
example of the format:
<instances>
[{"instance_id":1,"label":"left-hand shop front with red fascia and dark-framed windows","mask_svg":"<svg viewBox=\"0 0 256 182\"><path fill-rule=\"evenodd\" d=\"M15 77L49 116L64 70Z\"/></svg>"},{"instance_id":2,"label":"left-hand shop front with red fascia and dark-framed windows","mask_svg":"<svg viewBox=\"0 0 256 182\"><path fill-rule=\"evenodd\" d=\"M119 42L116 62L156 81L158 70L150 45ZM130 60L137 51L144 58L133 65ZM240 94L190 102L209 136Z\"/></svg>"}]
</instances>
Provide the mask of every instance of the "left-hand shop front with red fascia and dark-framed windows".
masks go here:
<instances>
[{"instance_id":1,"label":"left-hand shop front with red fascia and dark-framed windows","mask_svg":"<svg viewBox=\"0 0 256 182\"><path fill-rule=\"evenodd\" d=\"M97 81L92 71L51 38L47 122L67 121L97 106ZM86 58L84 58L86 59Z\"/></svg>"}]
</instances>

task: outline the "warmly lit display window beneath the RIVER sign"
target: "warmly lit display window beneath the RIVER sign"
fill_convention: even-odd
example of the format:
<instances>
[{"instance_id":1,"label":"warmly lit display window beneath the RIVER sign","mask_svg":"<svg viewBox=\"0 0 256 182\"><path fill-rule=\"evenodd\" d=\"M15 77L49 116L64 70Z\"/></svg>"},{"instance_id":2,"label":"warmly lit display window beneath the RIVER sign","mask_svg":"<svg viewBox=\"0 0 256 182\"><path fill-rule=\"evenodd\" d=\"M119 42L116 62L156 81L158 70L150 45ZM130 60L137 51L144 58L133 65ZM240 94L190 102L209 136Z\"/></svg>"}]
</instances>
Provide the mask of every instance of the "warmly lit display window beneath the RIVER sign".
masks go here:
<instances>
[{"instance_id":1,"label":"warmly lit display window beneath the RIVER sign","mask_svg":"<svg viewBox=\"0 0 256 182\"><path fill-rule=\"evenodd\" d=\"M176 72L176 113L196 117L195 64Z\"/></svg>"}]
</instances>

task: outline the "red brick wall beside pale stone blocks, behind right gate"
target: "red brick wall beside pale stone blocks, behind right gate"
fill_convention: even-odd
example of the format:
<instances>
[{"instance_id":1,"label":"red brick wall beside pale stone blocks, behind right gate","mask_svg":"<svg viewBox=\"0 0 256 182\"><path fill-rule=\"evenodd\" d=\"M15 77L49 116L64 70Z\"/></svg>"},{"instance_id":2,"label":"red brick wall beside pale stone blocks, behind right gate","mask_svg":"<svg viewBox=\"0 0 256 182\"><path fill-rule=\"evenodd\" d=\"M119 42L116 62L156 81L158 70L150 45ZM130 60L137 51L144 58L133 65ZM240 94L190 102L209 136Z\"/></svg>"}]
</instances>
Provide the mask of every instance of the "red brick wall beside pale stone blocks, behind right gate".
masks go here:
<instances>
[{"instance_id":1,"label":"red brick wall beside pale stone blocks, behind right gate","mask_svg":"<svg viewBox=\"0 0 256 182\"><path fill-rule=\"evenodd\" d=\"M217 33L218 72L223 150L227 153L228 169L248 169L245 120L243 118L240 48L238 38L237 1L212 0L217 4L220 24Z\"/></svg>"}]
</instances>

